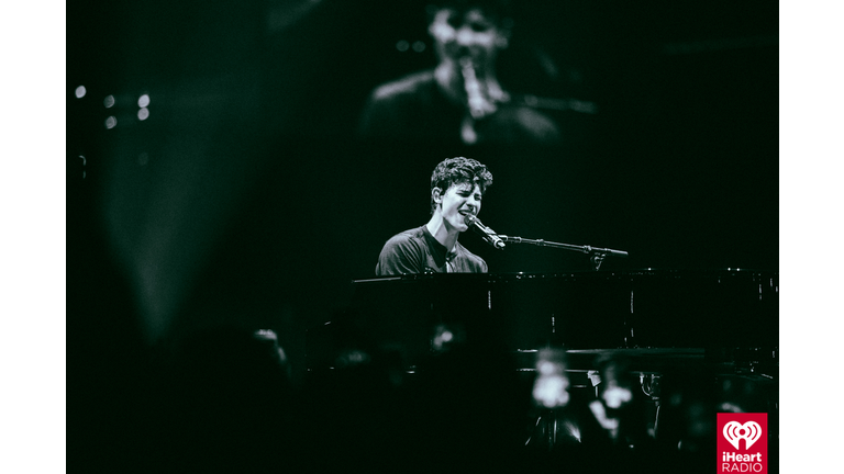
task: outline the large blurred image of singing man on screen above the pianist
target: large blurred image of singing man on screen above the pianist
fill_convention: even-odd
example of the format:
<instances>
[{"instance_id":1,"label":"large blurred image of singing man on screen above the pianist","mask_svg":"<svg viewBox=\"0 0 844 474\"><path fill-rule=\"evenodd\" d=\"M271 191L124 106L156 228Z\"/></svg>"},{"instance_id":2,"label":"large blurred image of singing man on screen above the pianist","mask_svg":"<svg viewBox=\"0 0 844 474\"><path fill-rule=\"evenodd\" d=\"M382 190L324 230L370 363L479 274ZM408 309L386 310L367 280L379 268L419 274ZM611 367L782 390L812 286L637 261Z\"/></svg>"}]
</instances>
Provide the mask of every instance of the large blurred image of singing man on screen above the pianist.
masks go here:
<instances>
[{"instance_id":1,"label":"large blurred image of singing man on screen above the pianist","mask_svg":"<svg viewBox=\"0 0 844 474\"><path fill-rule=\"evenodd\" d=\"M360 117L364 140L556 145L557 124L511 100L497 58L510 43L507 0L446 0L431 11L437 65L376 88Z\"/></svg>"}]
</instances>

